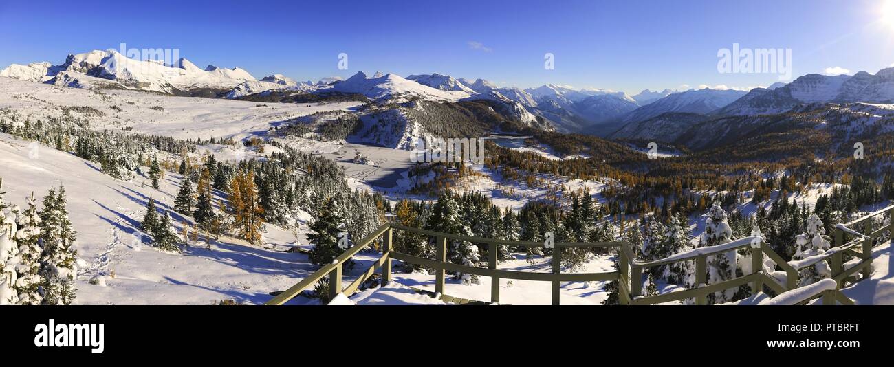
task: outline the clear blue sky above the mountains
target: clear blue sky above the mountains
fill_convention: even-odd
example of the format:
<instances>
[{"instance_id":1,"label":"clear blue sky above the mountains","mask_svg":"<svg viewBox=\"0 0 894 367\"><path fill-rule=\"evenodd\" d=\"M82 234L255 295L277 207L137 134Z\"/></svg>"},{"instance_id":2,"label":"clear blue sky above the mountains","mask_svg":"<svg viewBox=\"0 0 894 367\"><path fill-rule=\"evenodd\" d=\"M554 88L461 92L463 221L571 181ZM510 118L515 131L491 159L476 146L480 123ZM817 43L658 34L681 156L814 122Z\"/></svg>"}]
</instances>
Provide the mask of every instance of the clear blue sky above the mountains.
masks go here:
<instances>
[{"instance_id":1,"label":"clear blue sky above the mountains","mask_svg":"<svg viewBox=\"0 0 894 367\"><path fill-rule=\"evenodd\" d=\"M91 4L92 3L92 4ZM190 3L190 4L186 4ZM620 4L622 3L622 4ZM735 4L738 3L738 4ZM522 88L768 86L774 74L721 74L717 52L792 49L793 74L894 63L885 0L29 2L0 0L0 67L69 53L179 48L200 67L257 78L440 72ZM887 9L887 10L885 10ZM337 68L348 54L347 71ZM544 54L555 69L544 70Z\"/></svg>"}]
</instances>

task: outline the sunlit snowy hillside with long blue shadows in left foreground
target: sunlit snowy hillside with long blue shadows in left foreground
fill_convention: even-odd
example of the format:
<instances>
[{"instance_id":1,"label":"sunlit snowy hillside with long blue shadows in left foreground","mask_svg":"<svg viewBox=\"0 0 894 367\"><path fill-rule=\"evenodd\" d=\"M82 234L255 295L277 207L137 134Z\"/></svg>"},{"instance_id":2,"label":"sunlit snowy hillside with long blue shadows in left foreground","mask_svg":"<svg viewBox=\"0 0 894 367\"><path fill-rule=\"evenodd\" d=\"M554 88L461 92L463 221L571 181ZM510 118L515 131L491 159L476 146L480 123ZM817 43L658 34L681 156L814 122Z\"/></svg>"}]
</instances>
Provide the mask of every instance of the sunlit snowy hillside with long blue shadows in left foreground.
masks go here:
<instances>
[{"instance_id":1,"label":"sunlit snowy hillside with long blue shadows in left foreground","mask_svg":"<svg viewBox=\"0 0 894 367\"><path fill-rule=\"evenodd\" d=\"M268 292L290 287L296 277L314 270L306 255L232 238L222 238L214 250L192 246L183 254L156 251L139 229L144 206L152 196L160 209L171 211L180 177L169 172L156 190L147 179L116 181L95 163L46 146L38 146L31 159L30 144L0 134L6 201L21 205L32 191L44 196L49 188L65 187L82 260L75 304L213 304L223 299L260 304L270 298ZM181 216L172 216L179 229ZM266 237L281 246L294 240L282 230ZM105 287L88 283L97 274L105 275Z\"/></svg>"}]
</instances>

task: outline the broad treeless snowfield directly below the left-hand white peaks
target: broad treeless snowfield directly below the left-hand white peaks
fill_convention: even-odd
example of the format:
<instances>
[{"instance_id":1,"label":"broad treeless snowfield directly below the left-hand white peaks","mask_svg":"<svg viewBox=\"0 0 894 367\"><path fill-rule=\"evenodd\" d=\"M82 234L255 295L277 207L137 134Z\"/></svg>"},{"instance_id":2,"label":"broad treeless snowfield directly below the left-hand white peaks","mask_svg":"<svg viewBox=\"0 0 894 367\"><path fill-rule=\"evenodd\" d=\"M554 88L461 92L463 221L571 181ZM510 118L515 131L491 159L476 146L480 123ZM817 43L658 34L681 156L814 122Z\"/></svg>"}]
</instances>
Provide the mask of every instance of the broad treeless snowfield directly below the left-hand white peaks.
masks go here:
<instances>
[{"instance_id":1,"label":"broad treeless snowfield directly below the left-hand white peaks","mask_svg":"<svg viewBox=\"0 0 894 367\"><path fill-rule=\"evenodd\" d=\"M264 133L300 116L348 110L359 104L260 104L131 90L93 91L11 78L0 78L0 90L3 90L0 108L11 108L32 121L60 117L62 107L87 106L102 115L72 114L89 120L92 129L131 129L181 139L240 139Z\"/></svg>"}]
</instances>

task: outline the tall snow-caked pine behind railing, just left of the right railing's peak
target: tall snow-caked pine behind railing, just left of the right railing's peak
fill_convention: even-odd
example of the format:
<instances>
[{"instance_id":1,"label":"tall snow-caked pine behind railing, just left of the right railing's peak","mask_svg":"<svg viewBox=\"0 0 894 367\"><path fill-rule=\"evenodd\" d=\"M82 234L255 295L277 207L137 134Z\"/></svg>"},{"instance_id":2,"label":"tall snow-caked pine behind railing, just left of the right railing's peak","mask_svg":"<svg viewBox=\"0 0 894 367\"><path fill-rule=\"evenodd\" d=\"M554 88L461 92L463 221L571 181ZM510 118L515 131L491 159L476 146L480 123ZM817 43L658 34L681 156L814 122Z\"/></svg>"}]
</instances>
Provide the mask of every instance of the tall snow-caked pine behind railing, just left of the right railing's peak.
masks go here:
<instances>
[{"instance_id":1,"label":"tall snow-caked pine behind railing, just left of the right railing's peak","mask_svg":"<svg viewBox=\"0 0 894 367\"><path fill-rule=\"evenodd\" d=\"M729 216L721 207L720 201L715 201L711 209L707 213L708 219L704 223L704 234L699 240L699 245L719 246L730 243L732 241L732 229L727 223ZM715 254L708 256L708 279L697 279L694 286L698 284L714 284L733 279L736 275L736 251L730 251L723 254ZM723 291L714 292L708 295L709 304L722 304L730 302L735 295L734 289L725 289Z\"/></svg>"}]
</instances>

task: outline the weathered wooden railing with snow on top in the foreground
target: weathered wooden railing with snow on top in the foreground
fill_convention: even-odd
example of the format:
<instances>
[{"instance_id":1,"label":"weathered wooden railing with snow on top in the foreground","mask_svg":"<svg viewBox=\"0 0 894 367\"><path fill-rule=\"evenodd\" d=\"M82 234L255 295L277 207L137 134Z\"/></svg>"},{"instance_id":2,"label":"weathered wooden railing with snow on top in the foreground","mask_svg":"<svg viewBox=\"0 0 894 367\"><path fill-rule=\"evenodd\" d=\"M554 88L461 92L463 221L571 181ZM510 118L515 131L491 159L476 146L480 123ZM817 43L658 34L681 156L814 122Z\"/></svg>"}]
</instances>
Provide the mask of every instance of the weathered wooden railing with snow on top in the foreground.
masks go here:
<instances>
[{"instance_id":1,"label":"weathered wooden railing with snow on top in the foreground","mask_svg":"<svg viewBox=\"0 0 894 367\"><path fill-rule=\"evenodd\" d=\"M444 294L446 271L457 271L491 277L490 301L492 303L500 302L500 279L549 281L552 282L552 304L559 304L560 285L562 281L611 281L617 279L619 280L620 304L662 304L688 298L694 298L696 304L707 304L707 296L709 294L725 289L738 288L739 286L746 284L750 286L752 294L762 291L764 285L771 288L777 294L782 294L798 287L799 270L814 265L815 263L829 260L832 271L831 279L836 281L838 288L835 291L823 290L822 292L813 295L813 298L822 296L825 301L824 303L834 303L835 301L838 301L841 304L853 304L847 297L840 294L839 289L846 279L856 281L854 277L858 271L863 271L863 278L861 279L869 277L873 262L873 241L876 238L881 237L884 232L894 229L892 224L882 227L881 229L874 228L874 218L884 213L894 213L894 205L879 212L871 213L856 221L839 225L835 229L834 246L831 249L824 254L811 256L798 262L785 262L779 254L776 254L776 252L763 241L763 238L759 237L742 238L721 246L700 247L651 262L637 262L632 247L626 242L556 243L552 251L552 272L508 271L497 269L497 246L543 247L544 243L542 242L468 237L389 223L383 225L379 229L375 229L375 231L369 234L367 238L363 238L357 242L355 246L350 247L344 253L336 257L333 263L326 264L307 278L299 281L298 284L286 289L277 296L274 296L274 298L266 304L284 304L291 298L298 296L302 291L313 287L317 281L326 276L329 277L330 297L337 296L339 293L344 293L346 296L350 296L357 292L360 285L372 277L377 269L382 276L383 283L390 281L392 279L392 260L414 263L434 269L434 292L442 295ZM866 235L852 229L856 225L861 224L864 226L863 229ZM411 254L402 254L395 251L393 248L394 230L402 230L434 238L434 260ZM890 233L894 233L894 231L890 231ZM844 241L846 238L853 239L848 243L845 243ZM447 260L447 243L449 239L468 241L473 244L486 244L488 246L487 268L450 263ZM367 248L367 246L371 246L376 241L381 242L382 255L370 265L367 271L361 273L360 276L352 281L347 287L343 287L343 264L352 256L358 254L361 250ZM618 248L619 253L618 271L595 273L561 272L561 249L563 248L614 247ZM857 247L859 247L860 251L856 250ZM752 272L750 274L713 284L704 284L704 282L699 281L696 288L664 293L657 296L642 296L643 272L645 269L671 263L695 262L696 279L706 279L708 269L707 263L710 256L724 255L724 253L734 252L745 248L748 249L748 252L751 255ZM775 271L776 273L784 273L784 281L780 281L776 277L777 274L767 273L767 271L763 270L763 256L769 257L780 269L780 271ZM852 257L853 261L846 262L846 256ZM794 263L794 266L792 263Z\"/></svg>"}]
</instances>

